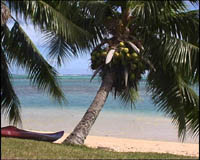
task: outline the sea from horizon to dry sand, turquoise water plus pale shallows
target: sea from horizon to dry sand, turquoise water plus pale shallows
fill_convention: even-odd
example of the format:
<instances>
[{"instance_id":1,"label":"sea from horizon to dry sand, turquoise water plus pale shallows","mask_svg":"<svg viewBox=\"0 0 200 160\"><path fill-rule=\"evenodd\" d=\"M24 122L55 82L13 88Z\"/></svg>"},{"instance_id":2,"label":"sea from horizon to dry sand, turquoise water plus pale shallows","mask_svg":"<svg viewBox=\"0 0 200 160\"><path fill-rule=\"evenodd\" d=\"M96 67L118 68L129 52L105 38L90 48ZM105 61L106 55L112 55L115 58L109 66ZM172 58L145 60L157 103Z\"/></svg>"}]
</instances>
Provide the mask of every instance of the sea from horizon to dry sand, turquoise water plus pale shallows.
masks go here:
<instances>
[{"instance_id":1,"label":"sea from horizon to dry sand, turquoise water plus pale shallows","mask_svg":"<svg viewBox=\"0 0 200 160\"><path fill-rule=\"evenodd\" d=\"M90 75L60 76L58 80L68 102L59 105L47 94L31 86L26 76L13 75L12 83L21 102L22 127L71 132L100 87L100 78L92 82L90 78ZM109 94L90 135L180 142L171 119L158 111L150 93L146 92L145 79L140 82L139 95L140 99L131 108ZM4 117L1 125L8 125ZM188 136L185 142L197 143L198 139Z\"/></svg>"}]
</instances>

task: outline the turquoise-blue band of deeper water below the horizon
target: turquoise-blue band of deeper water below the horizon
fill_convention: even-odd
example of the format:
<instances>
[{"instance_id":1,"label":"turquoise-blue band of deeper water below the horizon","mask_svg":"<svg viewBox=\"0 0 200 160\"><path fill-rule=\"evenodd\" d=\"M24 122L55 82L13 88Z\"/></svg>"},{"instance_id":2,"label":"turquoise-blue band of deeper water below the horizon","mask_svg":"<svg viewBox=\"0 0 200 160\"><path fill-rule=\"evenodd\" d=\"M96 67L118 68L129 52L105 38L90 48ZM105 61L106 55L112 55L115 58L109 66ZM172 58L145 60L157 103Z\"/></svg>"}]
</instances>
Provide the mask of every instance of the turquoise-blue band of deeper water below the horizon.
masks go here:
<instances>
[{"instance_id":1,"label":"turquoise-blue band of deeper water below the horizon","mask_svg":"<svg viewBox=\"0 0 200 160\"><path fill-rule=\"evenodd\" d=\"M91 83L90 78L90 75L68 75L59 77L61 88L68 101L64 105L59 105L45 93L38 91L35 87L31 87L30 81L26 76L13 76L12 82L22 108L63 107L72 110L86 110L92 103L101 84L100 78L95 78ZM142 80L139 86L140 99L136 102L134 108L131 109L130 104L125 105L120 99L114 99L112 94L110 94L103 111L162 116L163 113L157 112L157 108L153 105L150 95L146 93L145 84L145 80Z\"/></svg>"}]
</instances>

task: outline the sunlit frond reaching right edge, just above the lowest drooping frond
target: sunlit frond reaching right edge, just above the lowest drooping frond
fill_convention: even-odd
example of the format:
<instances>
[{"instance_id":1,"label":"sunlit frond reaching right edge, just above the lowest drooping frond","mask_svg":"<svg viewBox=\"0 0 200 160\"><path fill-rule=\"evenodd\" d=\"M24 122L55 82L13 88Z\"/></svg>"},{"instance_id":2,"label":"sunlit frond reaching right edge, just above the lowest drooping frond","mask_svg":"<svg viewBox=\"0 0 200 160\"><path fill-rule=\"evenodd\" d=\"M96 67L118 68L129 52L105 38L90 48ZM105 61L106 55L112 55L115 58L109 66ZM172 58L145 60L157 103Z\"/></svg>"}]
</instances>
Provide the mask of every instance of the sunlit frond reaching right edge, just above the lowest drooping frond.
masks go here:
<instances>
[{"instance_id":1,"label":"sunlit frond reaching right edge, just above the lowest drooping frond","mask_svg":"<svg viewBox=\"0 0 200 160\"><path fill-rule=\"evenodd\" d=\"M154 43L154 46L151 45ZM158 61L158 56L162 58L162 67L168 69L168 64L176 66L177 72L181 72L185 80L192 84L199 81L199 47L184 40L180 40L168 35L161 38L151 37L146 41L146 45L153 46L146 50L146 54L152 53L153 63ZM160 55L162 53L162 55Z\"/></svg>"}]
</instances>

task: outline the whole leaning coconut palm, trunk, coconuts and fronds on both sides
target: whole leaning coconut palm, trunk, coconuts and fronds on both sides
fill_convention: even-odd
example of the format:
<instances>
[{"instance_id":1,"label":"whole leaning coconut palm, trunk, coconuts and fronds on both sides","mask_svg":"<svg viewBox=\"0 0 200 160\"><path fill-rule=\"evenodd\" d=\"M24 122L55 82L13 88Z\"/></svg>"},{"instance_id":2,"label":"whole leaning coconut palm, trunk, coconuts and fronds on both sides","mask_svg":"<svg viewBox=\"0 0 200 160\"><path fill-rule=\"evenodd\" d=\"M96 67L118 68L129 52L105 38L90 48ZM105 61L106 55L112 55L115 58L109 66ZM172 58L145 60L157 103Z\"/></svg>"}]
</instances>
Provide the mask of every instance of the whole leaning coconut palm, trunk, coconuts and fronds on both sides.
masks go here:
<instances>
[{"instance_id":1,"label":"whole leaning coconut palm, trunk, coconuts and fronds on both sides","mask_svg":"<svg viewBox=\"0 0 200 160\"><path fill-rule=\"evenodd\" d=\"M144 73L154 104L172 118L178 136L184 140L186 132L198 135L199 97L192 88L199 81L198 10L188 11L184 1L167 0L9 4L44 29L50 55L59 64L70 55L66 53L76 56L76 51L92 50L91 79L99 74L102 84L64 143L84 143L110 92L134 104Z\"/></svg>"}]
</instances>

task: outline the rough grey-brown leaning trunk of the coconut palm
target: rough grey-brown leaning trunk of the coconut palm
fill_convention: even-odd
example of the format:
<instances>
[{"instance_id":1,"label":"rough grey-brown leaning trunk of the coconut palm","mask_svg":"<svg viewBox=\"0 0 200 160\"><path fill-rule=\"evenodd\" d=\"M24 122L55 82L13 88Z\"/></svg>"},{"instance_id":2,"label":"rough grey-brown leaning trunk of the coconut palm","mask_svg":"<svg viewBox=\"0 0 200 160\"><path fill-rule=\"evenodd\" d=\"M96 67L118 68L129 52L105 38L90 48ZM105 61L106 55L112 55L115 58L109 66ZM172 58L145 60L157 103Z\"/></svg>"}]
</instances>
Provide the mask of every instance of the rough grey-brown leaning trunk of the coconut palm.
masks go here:
<instances>
[{"instance_id":1,"label":"rough grey-brown leaning trunk of the coconut palm","mask_svg":"<svg viewBox=\"0 0 200 160\"><path fill-rule=\"evenodd\" d=\"M91 127L93 126L95 120L97 119L99 112L103 108L108 94L113 85L113 74L107 73L105 78L102 81L102 84L94 98L92 104L88 108L87 112L75 127L73 132L66 138L63 143L68 144L84 144L84 140L86 139L87 135Z\"/></svg>"}]
</instances>

